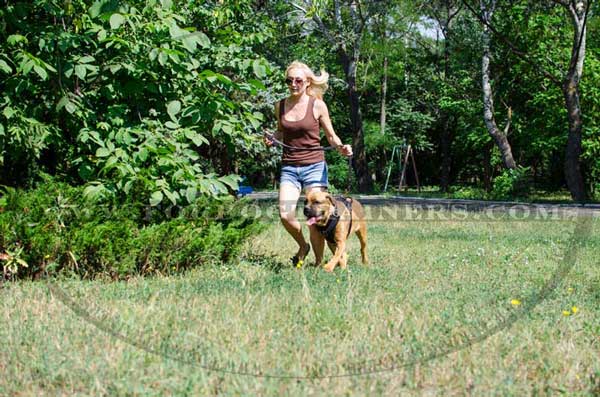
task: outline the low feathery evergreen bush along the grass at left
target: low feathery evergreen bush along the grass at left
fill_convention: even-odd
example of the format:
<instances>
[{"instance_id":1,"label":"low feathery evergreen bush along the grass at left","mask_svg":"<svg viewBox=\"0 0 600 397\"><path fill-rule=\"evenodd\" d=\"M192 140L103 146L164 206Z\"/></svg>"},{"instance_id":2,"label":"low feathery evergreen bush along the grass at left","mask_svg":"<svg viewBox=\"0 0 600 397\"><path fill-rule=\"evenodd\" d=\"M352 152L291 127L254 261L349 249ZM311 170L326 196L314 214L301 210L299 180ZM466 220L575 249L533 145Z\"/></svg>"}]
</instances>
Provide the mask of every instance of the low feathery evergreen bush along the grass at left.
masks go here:
<instances>
[{"instance_id":1,"label":"low feathery evergreen bush along the grass at left","mask_svg":"<svg viewBox=\"0 0 600 397\"><path fill-rule=\"evenodd\" d=\"M235 256L261 225L244 201L201 198L185 208L86 202L83 188L48 181L5 188L0 198L0 263L5 276L61 272L92 278L169 274Z\"/></svg>"}]
</instances>

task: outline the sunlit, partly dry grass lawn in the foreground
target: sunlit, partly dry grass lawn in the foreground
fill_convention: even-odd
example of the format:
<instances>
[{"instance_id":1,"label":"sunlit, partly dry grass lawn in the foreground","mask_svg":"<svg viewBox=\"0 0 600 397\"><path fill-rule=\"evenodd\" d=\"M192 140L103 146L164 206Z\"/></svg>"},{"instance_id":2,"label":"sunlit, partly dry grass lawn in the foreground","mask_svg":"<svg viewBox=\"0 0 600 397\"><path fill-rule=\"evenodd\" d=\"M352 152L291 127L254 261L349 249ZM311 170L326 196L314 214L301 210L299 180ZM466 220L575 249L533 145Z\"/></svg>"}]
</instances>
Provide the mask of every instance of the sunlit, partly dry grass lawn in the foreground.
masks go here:
<instances>
[{"instance_id":1,"label":"sunlit, partly dry grass lawn in the foreground","mask_svg":"<svg viewBox=\"0 0 600 397\"><path fill-rule=\"evenodd\" d=\"M273 221L227 266L4 284L0 395L600 393L597 219L571 268L572 219L418 215L374 219L348 272L291 268Z\"/></svg>"}]
</instances>

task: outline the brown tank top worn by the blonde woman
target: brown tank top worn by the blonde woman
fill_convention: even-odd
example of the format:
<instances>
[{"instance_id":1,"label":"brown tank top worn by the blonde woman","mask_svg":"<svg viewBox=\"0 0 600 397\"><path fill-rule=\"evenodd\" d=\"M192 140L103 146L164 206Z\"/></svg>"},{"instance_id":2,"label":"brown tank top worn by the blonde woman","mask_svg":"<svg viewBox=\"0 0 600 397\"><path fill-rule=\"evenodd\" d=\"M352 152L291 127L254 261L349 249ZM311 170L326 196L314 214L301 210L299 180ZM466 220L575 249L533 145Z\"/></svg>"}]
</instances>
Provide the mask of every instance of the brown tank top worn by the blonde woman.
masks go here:
<instances>
[{"instance_id":1,"label":"brown tank top worn by the blonde woman","mask_svg":"<svg viewBox=\"0 0 600 397\"><path fill-rule=\"evenodd\" d=\"M321 143L319 121L315 119L313 107L315 98L310 97L306 114L302 120L285 119L285 99L279 102L279 123L283 132L283 143L295 147L318 147ZM325 161L322 150L294 150L283 148L281 162L286 165L309 165Z\"/></svg>"}]
</instances>

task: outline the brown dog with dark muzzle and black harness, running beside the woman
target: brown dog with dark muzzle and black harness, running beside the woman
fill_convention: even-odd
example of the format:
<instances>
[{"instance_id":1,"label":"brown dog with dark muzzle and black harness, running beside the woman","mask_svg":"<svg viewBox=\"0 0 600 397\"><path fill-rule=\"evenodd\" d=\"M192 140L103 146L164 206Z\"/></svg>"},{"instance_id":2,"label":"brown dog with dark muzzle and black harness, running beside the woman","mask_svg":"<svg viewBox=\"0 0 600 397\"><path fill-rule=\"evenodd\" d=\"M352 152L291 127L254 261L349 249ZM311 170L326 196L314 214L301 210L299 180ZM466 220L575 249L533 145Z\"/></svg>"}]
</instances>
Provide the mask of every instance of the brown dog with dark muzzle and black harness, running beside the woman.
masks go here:
<instances>
[{"instance_id":1,"label":"brown dog with dark muzzle and black harness, running beside the woman","mask_svg":"<svg viewBox=\"0 0 600 397\"><path fill-rule=\"evenodd\" d=\"M360 240L362 263L368 263L367 224L363 207L358 201L348 198L334 199L327 192L312 191L306 196L304 215L307 218L306 223L317 229L318 237L311 238L316 266L321 265L324 243L327 241L333 257L323 269L332 272L337 264L345 269L348 263L346 240L352 233L356 233Z\"/></svg>"}]
</instances>

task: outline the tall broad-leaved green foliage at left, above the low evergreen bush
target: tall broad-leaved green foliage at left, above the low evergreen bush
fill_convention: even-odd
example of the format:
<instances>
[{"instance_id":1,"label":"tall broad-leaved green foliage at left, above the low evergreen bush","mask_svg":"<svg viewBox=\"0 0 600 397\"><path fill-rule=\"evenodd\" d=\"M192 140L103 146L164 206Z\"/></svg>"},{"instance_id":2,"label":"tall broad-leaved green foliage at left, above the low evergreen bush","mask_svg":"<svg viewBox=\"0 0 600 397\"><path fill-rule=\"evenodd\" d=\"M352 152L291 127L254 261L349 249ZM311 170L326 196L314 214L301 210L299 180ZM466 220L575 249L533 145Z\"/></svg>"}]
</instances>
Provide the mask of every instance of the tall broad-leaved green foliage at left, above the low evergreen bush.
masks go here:
<instances>
[{"instance_id":1,"label":"tall broad-leaved green foliage at left, above the low evergreen bush","mask_svg":"<svg viewBox=\"0 0 600 397\"><path fill-rule=\"evenodd\" d=\"M41 166L88 196L152 205L235 189L221 159L244 153L263 120L251 98L272 68L253 48L270 25L250 1L182 4L2 10L0 182L24 185Z\"/></svg>"}]
</instances>

